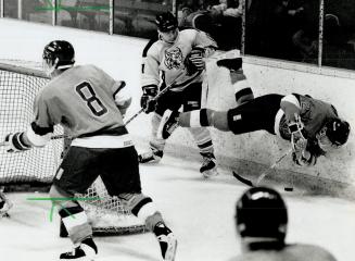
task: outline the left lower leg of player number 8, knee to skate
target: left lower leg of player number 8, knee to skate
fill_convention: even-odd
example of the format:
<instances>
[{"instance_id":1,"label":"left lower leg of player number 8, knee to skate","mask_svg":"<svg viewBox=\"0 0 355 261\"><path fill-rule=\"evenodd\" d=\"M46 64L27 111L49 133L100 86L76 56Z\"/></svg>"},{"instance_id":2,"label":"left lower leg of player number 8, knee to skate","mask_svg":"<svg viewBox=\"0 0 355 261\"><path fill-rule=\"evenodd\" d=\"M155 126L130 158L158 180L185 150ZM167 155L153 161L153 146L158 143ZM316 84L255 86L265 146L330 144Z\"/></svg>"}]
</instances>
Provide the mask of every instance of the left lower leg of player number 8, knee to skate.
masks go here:
<instances>
[{"instance_id":1,"label":"left lower leg of player number 8, knee to skate","mask_svg":"<svg viewBox=\"0 0 355 261\"><path fill-rule=\"evenodd\" d=\"M63 224L74 245L74 249L60 256L60 260L94 260L98 248L92 239L92 228L88 217L75 200L67 200L73 195L53 185L50 190L52 203L59 210ZM63 200L61 200L63 198Z\"/></svg>"}]
</instances>

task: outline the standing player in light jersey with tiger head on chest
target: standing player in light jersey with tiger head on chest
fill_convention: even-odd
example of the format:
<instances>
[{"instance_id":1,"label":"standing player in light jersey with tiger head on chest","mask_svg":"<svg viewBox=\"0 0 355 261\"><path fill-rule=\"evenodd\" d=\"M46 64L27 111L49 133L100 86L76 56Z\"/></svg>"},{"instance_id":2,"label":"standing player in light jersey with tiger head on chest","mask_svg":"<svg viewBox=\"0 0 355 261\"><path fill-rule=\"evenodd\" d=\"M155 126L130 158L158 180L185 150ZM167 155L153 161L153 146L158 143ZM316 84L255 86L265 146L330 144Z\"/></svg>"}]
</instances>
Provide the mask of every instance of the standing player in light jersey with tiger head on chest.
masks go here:
<instances>
[{"instance_id":1,"label":"standing player in light jersey with tiger head on chest","mask_svg":"<svg viewBox=\"0 0 355 261\"><path fill-rule=\"evenodd\" d=\"M201 108L204 58L217 48L205 33L196 29L179 30L177 18L170 13L156 16L159 39L151 41L143 52L141 107L152 115L151 151L139 157L141 163L157 162L163 157L165 140L156 138L156 129L165 110L191 111ZM157 101L154 96L174 79L178 80ZM204 127L189 128L203 163L200 172L204 177L217 175L216 159L210 130Z\"/></svg>"}]
</instances>

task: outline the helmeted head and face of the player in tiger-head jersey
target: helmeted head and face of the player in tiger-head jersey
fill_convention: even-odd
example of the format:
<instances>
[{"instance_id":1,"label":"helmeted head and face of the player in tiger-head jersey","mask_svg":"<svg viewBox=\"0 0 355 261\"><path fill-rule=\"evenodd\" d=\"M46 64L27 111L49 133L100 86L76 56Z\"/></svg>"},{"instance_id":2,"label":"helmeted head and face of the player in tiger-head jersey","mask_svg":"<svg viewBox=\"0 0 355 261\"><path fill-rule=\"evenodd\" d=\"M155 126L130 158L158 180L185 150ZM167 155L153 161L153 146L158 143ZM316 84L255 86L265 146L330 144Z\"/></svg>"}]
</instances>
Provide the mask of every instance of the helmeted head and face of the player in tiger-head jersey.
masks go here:
<instances>
[{"instance_id":1,"label":"helmeted head and face of the player in tiger-head jersey","mask_svg":"<svg viewBox=\"0 0 355 261\"><path fill-rule=\"evenodd\" d=\"M178 37L178 21L170 12L165 12L156 15L155 24L160 39L167 44L174 44Z\"/></svg>"}]
</instances>

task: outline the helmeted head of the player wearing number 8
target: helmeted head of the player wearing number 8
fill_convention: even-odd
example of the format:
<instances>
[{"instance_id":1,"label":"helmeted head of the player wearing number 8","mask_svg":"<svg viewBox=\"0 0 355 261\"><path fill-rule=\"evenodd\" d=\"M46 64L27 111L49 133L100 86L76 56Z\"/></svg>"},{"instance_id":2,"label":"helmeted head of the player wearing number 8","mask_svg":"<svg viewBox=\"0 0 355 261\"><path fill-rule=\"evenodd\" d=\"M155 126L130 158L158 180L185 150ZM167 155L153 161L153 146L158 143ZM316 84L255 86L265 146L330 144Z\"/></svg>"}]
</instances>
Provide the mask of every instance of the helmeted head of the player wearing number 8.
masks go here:
<instances>
[{"instance_id":1,"label":"helmeted head of the player wearing number 8","mask_svg":"<svg viewBox=\"0 0 355 261\"><path fill-rule=\"evenodd\" d=\"M71 42L53 40L45 47L42 58L47 75L55 76L74 65L75 51Z\"/></svg>"}]
</instances>

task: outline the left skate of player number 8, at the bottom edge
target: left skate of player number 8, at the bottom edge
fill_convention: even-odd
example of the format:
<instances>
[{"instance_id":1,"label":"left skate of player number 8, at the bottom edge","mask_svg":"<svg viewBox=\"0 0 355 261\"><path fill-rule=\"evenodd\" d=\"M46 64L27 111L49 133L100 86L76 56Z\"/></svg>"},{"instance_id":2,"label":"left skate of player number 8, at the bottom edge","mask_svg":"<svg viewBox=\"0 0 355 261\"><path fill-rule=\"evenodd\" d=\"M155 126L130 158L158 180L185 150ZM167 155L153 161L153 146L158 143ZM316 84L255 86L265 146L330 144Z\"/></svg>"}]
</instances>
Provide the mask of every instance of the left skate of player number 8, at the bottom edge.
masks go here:
<instances>
[{"instance_id":1,"label":"left skate of player number 8, at the bottom edge","mask_svg":"<svg viewBox=\"0 0 355 261\"><path fill-rule=\"evenodd\" d=\"M91 261L98 254L98 248L91 237L84 239L71 252L61 253L60 260Z\"/></svg>"}]
</instances>

